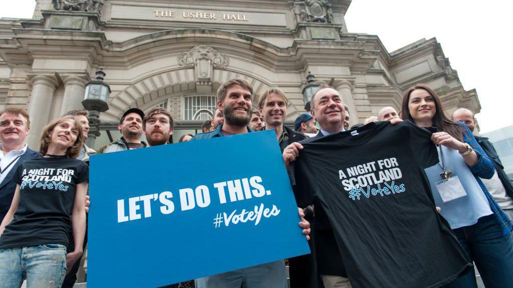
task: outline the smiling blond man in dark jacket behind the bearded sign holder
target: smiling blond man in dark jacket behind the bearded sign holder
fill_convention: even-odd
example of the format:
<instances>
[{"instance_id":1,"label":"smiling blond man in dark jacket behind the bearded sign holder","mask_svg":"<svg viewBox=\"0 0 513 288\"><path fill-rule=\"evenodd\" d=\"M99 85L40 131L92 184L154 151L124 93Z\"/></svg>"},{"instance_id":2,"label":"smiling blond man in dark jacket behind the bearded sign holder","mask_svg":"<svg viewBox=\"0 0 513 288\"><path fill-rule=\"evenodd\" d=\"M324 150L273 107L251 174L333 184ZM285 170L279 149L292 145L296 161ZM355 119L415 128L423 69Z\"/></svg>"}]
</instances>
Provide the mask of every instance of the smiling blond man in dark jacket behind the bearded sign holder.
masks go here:
<instances>
[{"instance_id":1,"label":"smiling blond man in dark jacket behind the bearded sign holder","mask_svg":"<svg viewBox=\"0 0 513 288\"><path fill-rule=\"evenodd\" d=\"M290 143L306 138L305 134L283 125L287 118L287 98L280 89L271 87L262 94L259 111L264 116L265 122L265 127L262 130L274 129L282 152Z\"/></svg>"}]
</instances>

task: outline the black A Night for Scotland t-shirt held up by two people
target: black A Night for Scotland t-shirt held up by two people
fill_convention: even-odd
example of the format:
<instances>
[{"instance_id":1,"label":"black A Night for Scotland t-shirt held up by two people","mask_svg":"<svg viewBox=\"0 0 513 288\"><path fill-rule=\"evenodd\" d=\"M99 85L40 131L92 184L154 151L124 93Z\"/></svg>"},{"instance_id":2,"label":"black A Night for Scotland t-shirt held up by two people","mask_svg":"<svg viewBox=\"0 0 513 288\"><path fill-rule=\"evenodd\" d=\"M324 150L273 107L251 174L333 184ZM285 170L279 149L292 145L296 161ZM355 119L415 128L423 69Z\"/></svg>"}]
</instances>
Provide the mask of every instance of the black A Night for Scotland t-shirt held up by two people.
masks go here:
<instances>
[{"instance_id":1,"label":"black A Night for Scotland t-shirt held up by two people","mask_svg":"<svg viewBox=\"0 0 513 288\"><path fill-rule=\"evenodd\" d=\"M439 287L471 269L424 173L438 162L431 133L410 121L356 133L302 141L292 166L298 205L322 206L351 285Z\"/></svg>"}]
</instances>

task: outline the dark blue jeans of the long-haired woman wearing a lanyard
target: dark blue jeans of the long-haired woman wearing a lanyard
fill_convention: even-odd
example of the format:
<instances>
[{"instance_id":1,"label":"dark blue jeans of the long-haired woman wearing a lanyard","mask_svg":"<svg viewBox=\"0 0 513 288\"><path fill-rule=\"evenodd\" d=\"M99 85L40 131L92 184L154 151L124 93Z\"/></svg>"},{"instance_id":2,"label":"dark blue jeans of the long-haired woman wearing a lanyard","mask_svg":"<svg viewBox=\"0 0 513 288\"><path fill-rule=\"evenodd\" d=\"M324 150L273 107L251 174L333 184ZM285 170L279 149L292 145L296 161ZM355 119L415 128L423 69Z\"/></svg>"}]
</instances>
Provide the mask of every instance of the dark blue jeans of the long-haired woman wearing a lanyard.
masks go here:
<instances>
[{"instance_id":1,"label":"dark blue jeans of the long-haired woman wearing a lanyard","mask_svg":"<svg viewBox=\"0 0 513 288\"><path fill-rule=\"evenodd\" d=\"M467 256L474 261L486 288L513 284L513 239L502 236L495 216L479 218L476 224L453 230ZM474 270L449 283L448 288L477 288Z\"/></svg>"}]
</instances>

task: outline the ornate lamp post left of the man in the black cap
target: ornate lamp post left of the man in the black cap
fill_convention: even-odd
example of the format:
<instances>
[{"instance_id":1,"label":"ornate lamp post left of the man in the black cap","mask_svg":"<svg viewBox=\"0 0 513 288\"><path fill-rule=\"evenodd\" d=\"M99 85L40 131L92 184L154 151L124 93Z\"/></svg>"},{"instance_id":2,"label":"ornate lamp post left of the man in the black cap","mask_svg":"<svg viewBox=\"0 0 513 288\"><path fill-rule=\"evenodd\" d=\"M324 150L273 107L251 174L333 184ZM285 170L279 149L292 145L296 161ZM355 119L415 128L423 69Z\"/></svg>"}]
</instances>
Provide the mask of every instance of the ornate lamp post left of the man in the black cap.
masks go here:
<instances>
[{"instance_id":1,"label":"ornate lamp post left of the man in the black cap","mask_svg":"<svg viewBox=\"0 0 513 288\"><path fill-rule=\"evenodd\" d=\"M82 105L89 111L89 133L86 145L94 147L94 140L100 136L100 112L109 110L110 87L103 81L105 72L103 68L96 71L96 79L86 84L86 93Z\"/></svg>"}]
</instances>

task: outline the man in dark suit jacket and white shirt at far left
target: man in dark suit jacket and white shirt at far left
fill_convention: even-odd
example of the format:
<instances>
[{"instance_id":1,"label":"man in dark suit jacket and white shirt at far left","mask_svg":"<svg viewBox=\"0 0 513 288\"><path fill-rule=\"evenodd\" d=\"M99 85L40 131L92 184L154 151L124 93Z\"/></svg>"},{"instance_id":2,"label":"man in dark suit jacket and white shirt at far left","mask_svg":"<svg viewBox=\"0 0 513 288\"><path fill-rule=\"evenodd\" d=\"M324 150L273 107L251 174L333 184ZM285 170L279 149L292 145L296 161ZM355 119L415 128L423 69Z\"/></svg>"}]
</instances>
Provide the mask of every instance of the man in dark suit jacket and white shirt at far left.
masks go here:
<instances>
[{"instance_id":1,"label":"man in dark suit jacket and white shirt at far left","mask_svg":"<svg viewBox=\"0 0 513 288\"><path fill-rule=\"evenodd\" d=\"M12 176L19 163L39 157L25 143L29 131L30 119L25 109L7 108L0 112L0 222L11 207L16 189Z\"/></svg>"}]
</instances>

